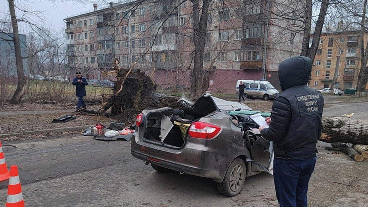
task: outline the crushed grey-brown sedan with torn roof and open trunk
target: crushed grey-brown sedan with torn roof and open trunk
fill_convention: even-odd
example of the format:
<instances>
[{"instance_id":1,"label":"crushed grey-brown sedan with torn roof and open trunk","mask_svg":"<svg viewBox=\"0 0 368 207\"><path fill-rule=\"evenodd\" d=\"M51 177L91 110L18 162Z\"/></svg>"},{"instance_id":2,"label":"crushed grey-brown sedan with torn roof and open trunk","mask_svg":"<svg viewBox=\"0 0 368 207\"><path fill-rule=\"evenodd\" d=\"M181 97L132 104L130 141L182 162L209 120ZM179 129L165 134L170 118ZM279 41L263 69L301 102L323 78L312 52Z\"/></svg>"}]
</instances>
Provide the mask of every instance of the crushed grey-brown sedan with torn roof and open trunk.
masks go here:
<instances>
[{"instance_id":1,"label":"crushed grey-brown sedan with torn roof and open trunk","mask_svg":"<svg viewBox=\"0 0 368 207\"><path fill-rule=\"evenodd\" d=\"M131 154L158 172L211 178L225 196L235 196L246 177L272 173L272 144L259 134L244 103L205 94L195 103L181 98L184 110L143 110L137 116ZM262 113L262 116L270 116Z\"/></svg>"}]
</instances>

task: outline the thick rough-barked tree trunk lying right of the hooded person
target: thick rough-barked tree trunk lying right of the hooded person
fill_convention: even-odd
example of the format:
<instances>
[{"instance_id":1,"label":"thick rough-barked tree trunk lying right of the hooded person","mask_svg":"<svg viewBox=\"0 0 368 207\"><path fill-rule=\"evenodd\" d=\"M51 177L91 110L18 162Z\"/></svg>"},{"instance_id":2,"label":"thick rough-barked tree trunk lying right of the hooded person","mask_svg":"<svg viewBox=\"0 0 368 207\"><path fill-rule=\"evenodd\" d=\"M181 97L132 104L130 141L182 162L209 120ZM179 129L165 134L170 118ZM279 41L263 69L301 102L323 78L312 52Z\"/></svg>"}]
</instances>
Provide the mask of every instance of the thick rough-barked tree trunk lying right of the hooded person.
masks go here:
<instances>
[{"instance_id":1,"label":"thick rough-barked tree trunk lying right of the hooded person","mask_svg":"<svg viewBox=\"0 0 368 207\"><path fill-rule=\"evenodd\" d=\"M329 117L322 120L319 140L334 143L368 144L368 120Z\"/></svg>"}]
</instances>

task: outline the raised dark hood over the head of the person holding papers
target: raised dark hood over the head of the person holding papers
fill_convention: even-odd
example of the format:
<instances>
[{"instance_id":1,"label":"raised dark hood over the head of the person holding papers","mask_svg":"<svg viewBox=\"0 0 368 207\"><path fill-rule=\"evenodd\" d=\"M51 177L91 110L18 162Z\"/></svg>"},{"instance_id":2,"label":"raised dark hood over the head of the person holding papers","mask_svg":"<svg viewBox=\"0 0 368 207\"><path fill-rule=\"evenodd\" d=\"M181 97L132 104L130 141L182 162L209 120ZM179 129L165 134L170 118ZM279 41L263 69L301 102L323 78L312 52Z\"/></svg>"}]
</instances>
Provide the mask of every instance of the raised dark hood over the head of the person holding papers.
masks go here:
<instances>
[{"instance_id":1,"label":"raised dark hood over the head of the person holding papers","mask_svg":"<svg viewBox=\"0 0 368 207\"><path fill-rule=\"evenodd\" d=\"M279 80L281 90L298 85L307 85L312 72L312 60L298 56L284 60L279 64Z\"/></svg>"}]
</instances>

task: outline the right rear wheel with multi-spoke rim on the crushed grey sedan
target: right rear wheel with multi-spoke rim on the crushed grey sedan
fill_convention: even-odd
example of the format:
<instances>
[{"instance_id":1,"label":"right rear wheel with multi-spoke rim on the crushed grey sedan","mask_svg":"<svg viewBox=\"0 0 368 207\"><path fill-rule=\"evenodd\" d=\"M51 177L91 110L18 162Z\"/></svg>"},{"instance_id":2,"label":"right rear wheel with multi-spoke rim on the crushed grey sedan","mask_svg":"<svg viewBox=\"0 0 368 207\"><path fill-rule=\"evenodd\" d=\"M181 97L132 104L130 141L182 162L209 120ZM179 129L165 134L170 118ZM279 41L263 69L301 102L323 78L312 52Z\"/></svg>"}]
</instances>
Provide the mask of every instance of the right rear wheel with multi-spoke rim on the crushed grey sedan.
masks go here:
<instances>
[{"instance_id":1,"label":"right rear wheel with multi-spoke rim on the crushed grey sedan","mask_svg":"<svg viewBox=\"0 0 368 207\"><path fill-rule=\"evenodd\" d=\"M227 197L236 196L243 189L247 168L243 159L236 158L226 170L224 180L216 183L217 191Z\"/></svg>"}]
</instances>

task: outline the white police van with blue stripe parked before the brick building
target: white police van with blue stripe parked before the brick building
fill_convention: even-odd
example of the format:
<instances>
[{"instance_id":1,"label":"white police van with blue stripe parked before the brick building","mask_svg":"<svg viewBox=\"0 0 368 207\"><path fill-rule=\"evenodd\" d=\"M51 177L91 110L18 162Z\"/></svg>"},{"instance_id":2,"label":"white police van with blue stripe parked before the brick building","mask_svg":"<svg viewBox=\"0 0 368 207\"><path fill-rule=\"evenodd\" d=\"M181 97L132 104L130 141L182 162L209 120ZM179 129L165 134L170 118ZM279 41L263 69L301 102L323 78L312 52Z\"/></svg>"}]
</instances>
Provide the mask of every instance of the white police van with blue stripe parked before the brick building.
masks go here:
<instances>
[{"instance_id":1,"label":"white police van with blue stripe parked before the brick building","mask_svg":"<svg viewBox=\"0 0 368 207\"><path fill-rule=\"evenodd\" d=\"M256 97L263 98L266 101L269 99L274 99L279 95L279 91L273 87L270 82L265 80L255 81L255 80L238 80L236 83L236 93L239 94L240 81L243 81L245 85L244 97Z\"/></svg>"}]
</instances>

